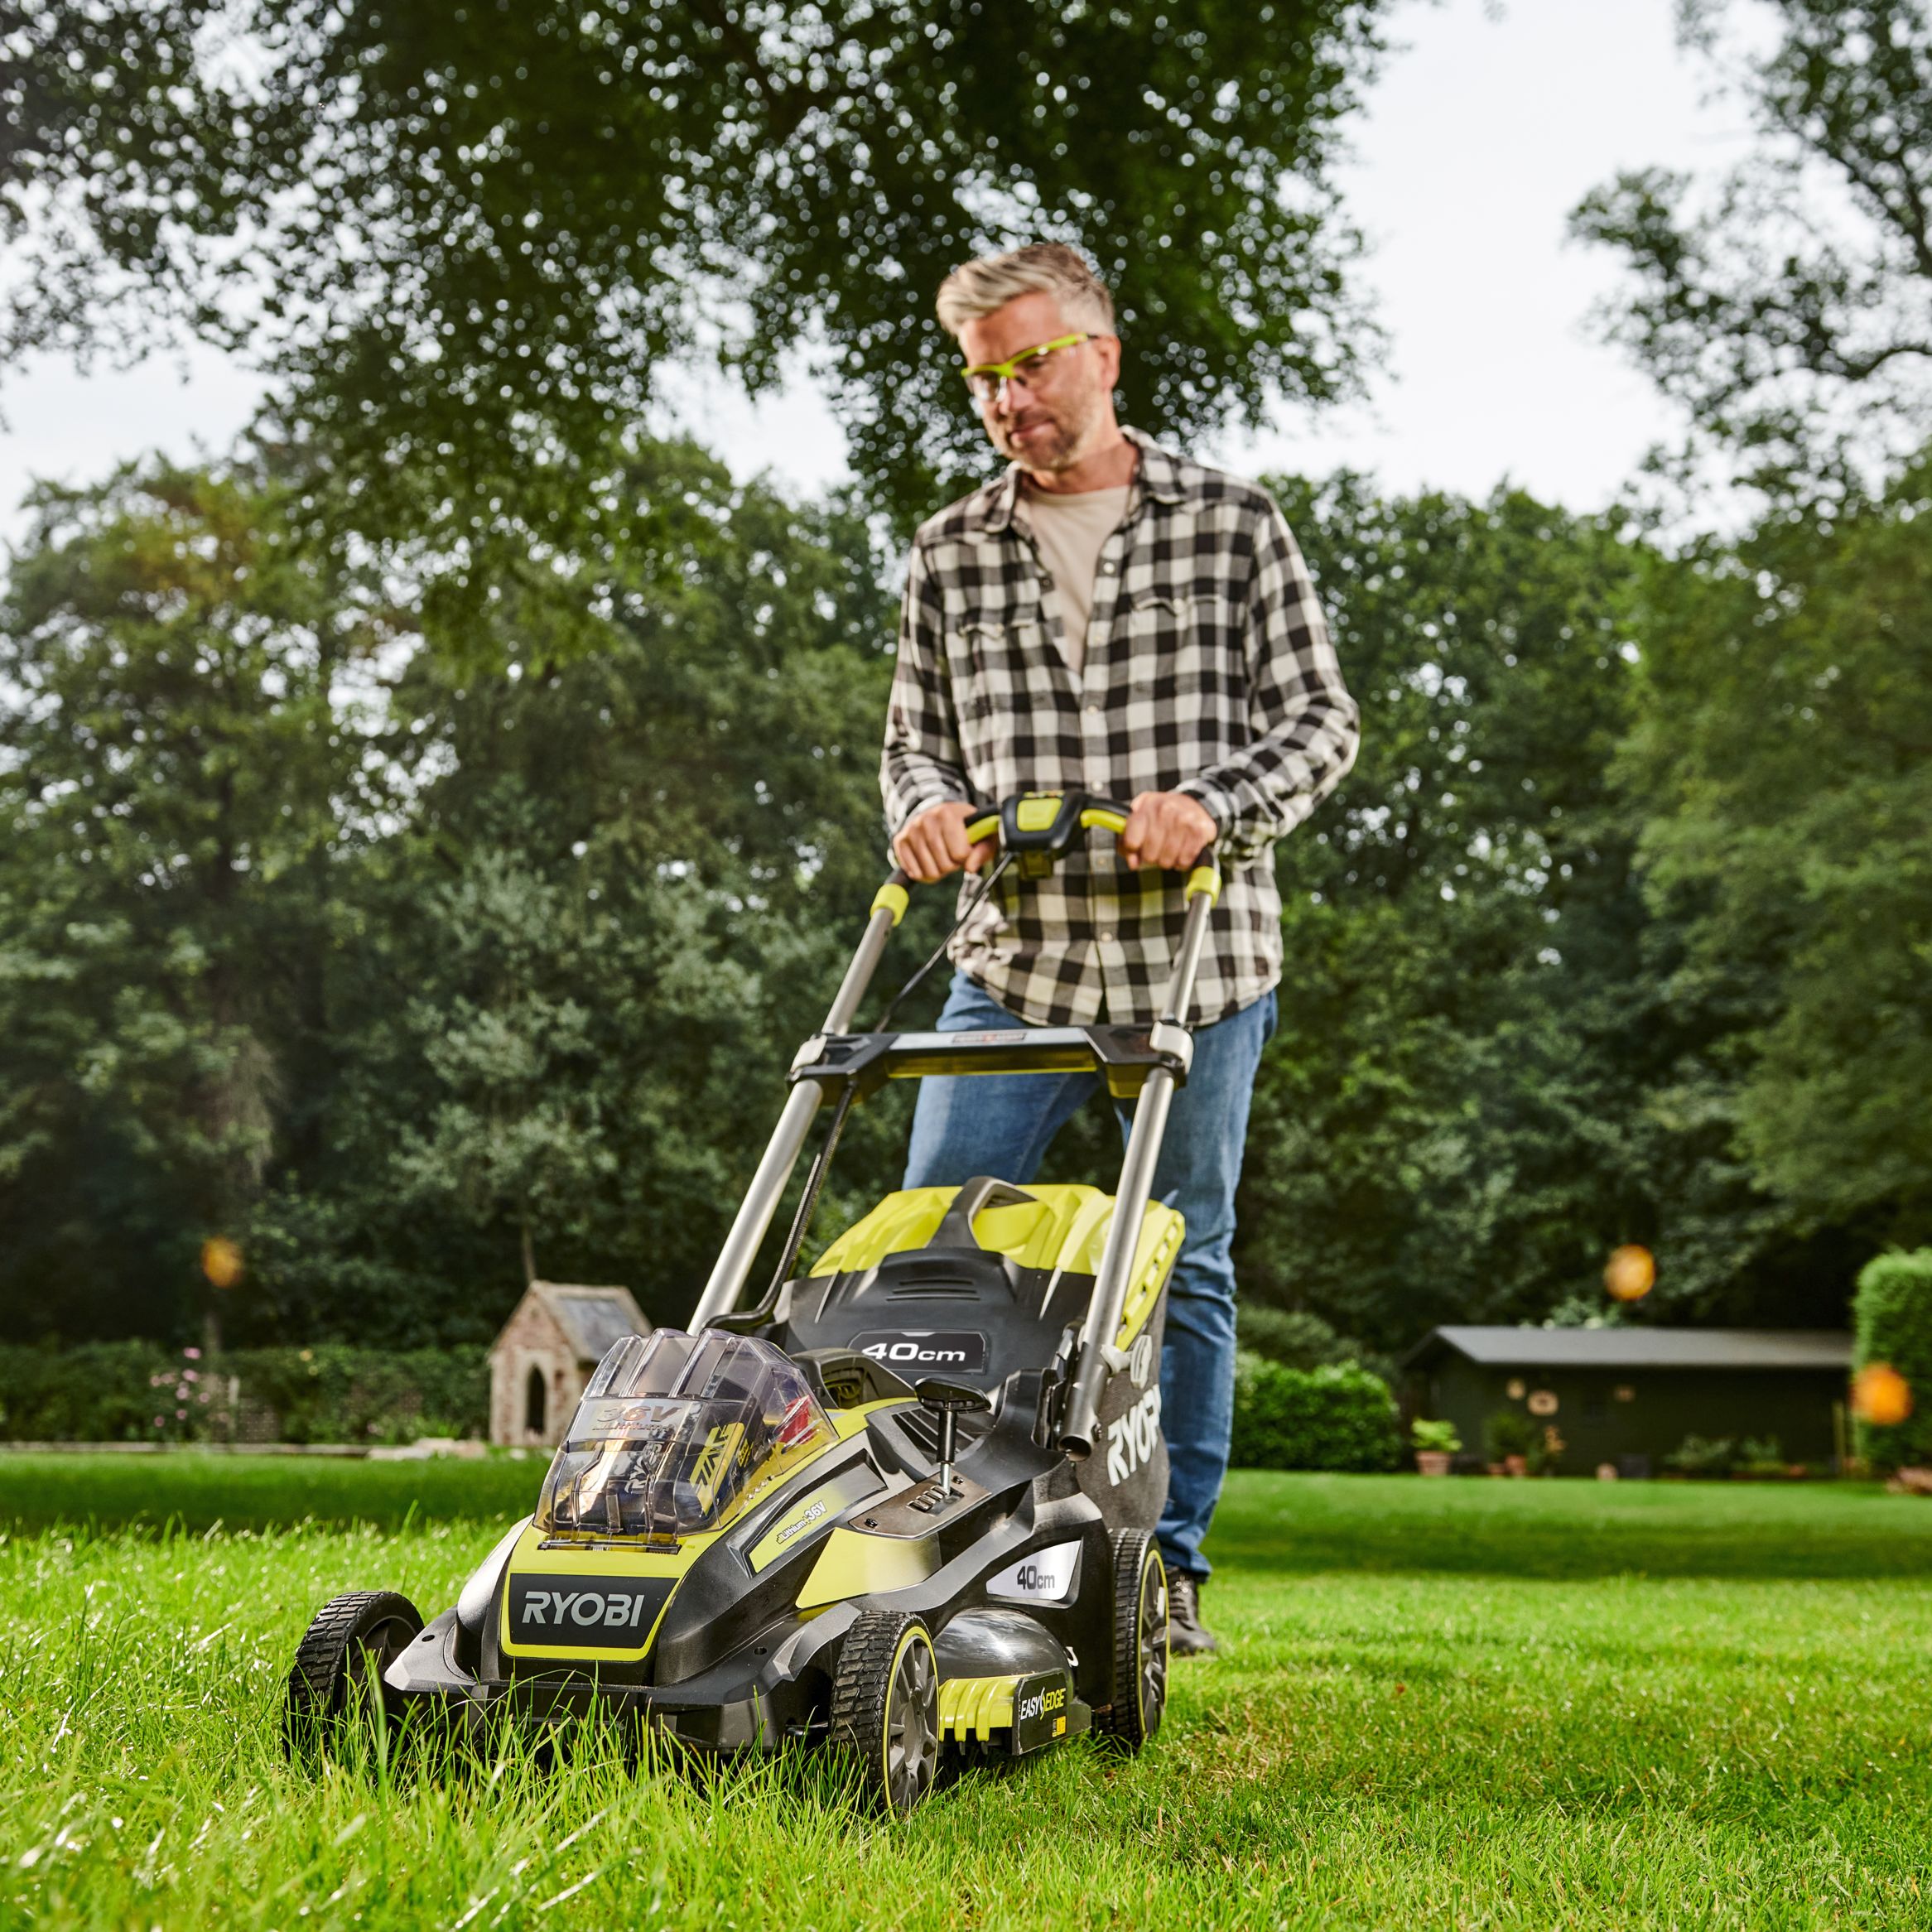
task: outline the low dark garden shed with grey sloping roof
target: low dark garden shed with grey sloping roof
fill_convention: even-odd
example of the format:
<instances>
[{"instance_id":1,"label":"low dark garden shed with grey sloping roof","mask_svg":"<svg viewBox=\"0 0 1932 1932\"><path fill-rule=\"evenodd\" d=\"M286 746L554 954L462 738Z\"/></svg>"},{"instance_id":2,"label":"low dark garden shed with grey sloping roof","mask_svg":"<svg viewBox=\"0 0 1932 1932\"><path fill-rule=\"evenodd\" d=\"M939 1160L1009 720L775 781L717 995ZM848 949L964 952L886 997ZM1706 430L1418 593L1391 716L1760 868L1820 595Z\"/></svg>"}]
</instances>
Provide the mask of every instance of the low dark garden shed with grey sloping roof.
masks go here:
<instances>
[{"instance_id":1,"label":"low dark garden shed with grey sloping roof","mask_svg":"<svg viewBox=\"0 0 1932 1932\"><path fill-rule=\"evenodd\" d=\"M1660 1470L1687 1435L1776 1437L1785 1459L1843 1453L1851 1335L1830 1329L1439 1327L1403 1358L1414 1414L1480 1451L1499 1408L1553 1424L1561 1468Z\"/></svg>"}]
</instances>

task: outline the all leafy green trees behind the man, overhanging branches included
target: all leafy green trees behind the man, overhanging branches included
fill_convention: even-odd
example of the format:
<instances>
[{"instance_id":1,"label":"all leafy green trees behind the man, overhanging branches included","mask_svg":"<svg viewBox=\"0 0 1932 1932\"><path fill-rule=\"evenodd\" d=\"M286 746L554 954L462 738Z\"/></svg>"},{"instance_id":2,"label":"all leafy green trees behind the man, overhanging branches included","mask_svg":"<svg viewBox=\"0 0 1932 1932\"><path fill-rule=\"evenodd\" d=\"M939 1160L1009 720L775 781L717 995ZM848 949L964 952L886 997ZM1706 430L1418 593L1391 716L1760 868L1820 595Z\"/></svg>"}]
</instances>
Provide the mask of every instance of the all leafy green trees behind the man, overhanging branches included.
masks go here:
<instances>
[{"instance_id":1,"label":"all leafy green trees behind the man, overhanging branches included","mask_svg":"<svg viewBox=\"0 0 1932 1932\"><path fill-rule=\"evenodd\" d=\"M1296 1347L1569 1320L1629 1240L1640 1320L1824 1325L1932 1238L1932 31L1772 17L1718 201L1578 214L1762 514L1273 485L1364 713L1277 858L1238 1264ZM12 564L0 1331L479 1339L531 1267L682 1316L883 864L877 512L972 458L931 286L1068 234L1151 427L1333 392L1374 21L29 6L12 348L197 332L276 415L44 491ZM850 497L645 435L668 363L790 350ZM854 1117L821 1231L895 1184L904 1107ZM1115 1157L1095 1107L1053 1163Z\"/></svg>"}]
</instances>

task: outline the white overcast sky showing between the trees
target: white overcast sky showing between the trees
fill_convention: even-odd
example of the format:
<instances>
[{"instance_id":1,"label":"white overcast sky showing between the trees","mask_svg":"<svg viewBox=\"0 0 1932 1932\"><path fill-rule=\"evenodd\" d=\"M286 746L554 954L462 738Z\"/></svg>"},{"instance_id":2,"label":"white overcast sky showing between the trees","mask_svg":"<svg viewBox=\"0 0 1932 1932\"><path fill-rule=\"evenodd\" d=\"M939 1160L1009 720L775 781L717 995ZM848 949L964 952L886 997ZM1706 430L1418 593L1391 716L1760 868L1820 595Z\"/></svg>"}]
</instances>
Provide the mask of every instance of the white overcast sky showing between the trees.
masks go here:
<instances>
[{"instance_id":1,"label":"white overcast sky showing between the trees","mask_svg":"<svg viewBox=\"0 0 1932 1932\"><path fill-rule=\"evenodd\" d=\"M1285 413L1208 452L1240 469L1368 469L1385 487L1486 495L1505 477L1596 508L1675 413L1586 327L1615 265L1565 242L1569 209L1619 168L1716 172L1743 151L1735 104L1671 37L1673 0L1408 0L1401 43L1347 168L1372 240L1364 276L1391 338L1374 400L1318 423ZM688 419L738 471L813 489L842 473L837 413L810 386L746 402L688 384ZM205 352L81 377L39 363L0 388L0 535L33 477L220 450L261 384Z\"/></svg>"}]
</instances>

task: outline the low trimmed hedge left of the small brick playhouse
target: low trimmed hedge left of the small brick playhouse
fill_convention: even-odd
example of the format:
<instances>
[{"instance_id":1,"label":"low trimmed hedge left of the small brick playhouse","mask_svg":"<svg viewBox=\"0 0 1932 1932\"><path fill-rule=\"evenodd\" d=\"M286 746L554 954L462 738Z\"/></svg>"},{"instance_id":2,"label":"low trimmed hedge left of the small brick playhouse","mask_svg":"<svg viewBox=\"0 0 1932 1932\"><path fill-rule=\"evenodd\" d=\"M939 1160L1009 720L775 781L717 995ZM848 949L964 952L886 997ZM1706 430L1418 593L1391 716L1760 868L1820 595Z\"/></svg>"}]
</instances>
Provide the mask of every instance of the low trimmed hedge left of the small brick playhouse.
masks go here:
<instances>
[{"instance_id":1,"label":"low trimmed hedge left of the small brick playhouse","mask_svg":"<svg viewBox=\"0 0 1932 1932\"><path fill-rule=\"evenodd\" d=\"M396 1443L489 1430L479 1347L0 1345L0 1441Z\"/></svg>"}]
</instances>

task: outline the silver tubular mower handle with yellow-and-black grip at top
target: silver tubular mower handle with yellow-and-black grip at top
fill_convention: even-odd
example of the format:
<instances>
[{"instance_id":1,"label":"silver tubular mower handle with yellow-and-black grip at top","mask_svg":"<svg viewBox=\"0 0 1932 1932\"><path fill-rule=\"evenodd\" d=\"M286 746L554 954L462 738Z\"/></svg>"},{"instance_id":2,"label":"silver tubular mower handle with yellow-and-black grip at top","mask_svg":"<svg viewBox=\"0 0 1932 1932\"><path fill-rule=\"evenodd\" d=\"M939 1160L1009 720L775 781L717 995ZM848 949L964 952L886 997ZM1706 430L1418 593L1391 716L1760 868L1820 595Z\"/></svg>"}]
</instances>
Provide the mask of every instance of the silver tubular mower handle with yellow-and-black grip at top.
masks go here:
<instances>
[{"instance_id":1,"label":"silver tubular mower handle with yellow-and-black grip at top","mask_svg":"<svg viewBox=\"0 0 1932 1932\"><path fill-rule=\"evenodd\" d=\"M1026 792L1009 798L997 810L976 810L980 815L966 825L966 837L974 844L997 835L1022 862L1030 856L1036 858L1041 871L1051 869L1053 862L1065 856L1078 833L1111 831L1119 835L1128 817L1126 806L1084 792ZM893 867L893 875L873 896L866 933L838 991L833 995L821 1032L850 1032L860 1001L885 954L885 945L893 937L893 927L906 916L910 904L906 887L910 883L900 867ZM1200 972L1202 947L1208 939L1208 920L1219 896L1221 873L1211 862L1211 852L1202 852L1188 871L1180 954L1161 995L1161 1022L1167 1026L1186 1024L1184 1016L1194 999L1194 978ZM1121 1161L1113 1221L1107 1227L1107 1244L1094 1277L1094 1298L1088 1302L1080 1327L1080 1347L1061 1406L1061 1447L1076 1459L1094 1453L1099 1435L1099 1395L1107 1370L1126 1366L1124 1358L1115 1360L1119 1356L1115 1335L1121 1331L1134 1250L1140 1246L1140 1223L1146 1219L1148 1200L1153 1192L1153 1169L1167 1134L1167 1111L1173 1105L1175 1084L1173 1068L1157 1066L1148 1074L1134 1105L1134 1124L1128 1130L1126 1153ZM771 1144L765 1148L765 1157L757 1163L757 1173L752 1177L730 1233L724 1236L724 1246L719 1250L711 1279L697 1298L697 1308L692 1310L694 1329L730 1314L744 1293L752 1262L771 1227L771 1217L779 1209L786 1182L792 1179L792 1169L798 1165L798 1155L804 1151L823 1097L825 1086L817 1080L800 1080L792 1088Z\"/></svg>"}]
</instances>

